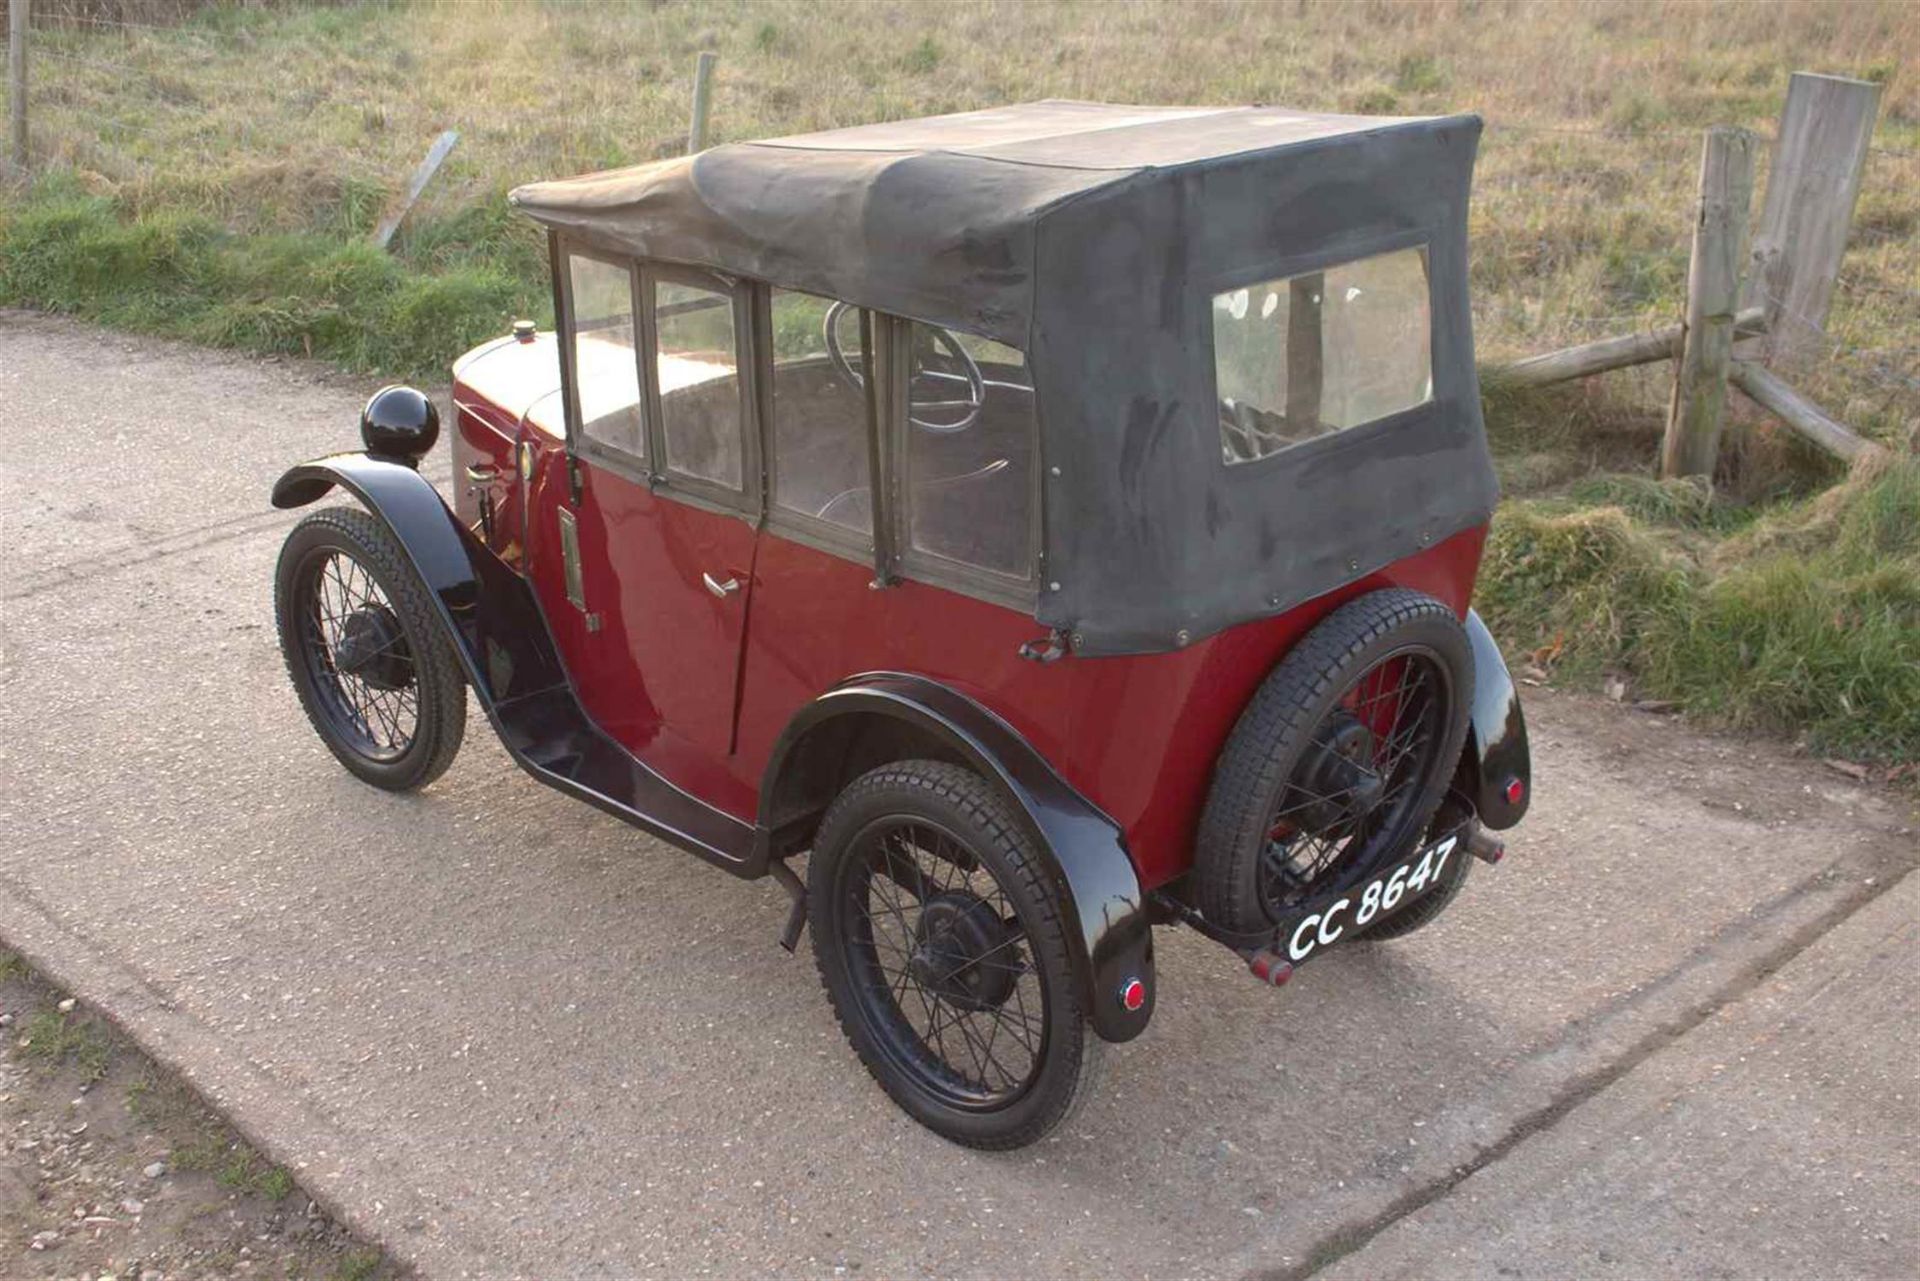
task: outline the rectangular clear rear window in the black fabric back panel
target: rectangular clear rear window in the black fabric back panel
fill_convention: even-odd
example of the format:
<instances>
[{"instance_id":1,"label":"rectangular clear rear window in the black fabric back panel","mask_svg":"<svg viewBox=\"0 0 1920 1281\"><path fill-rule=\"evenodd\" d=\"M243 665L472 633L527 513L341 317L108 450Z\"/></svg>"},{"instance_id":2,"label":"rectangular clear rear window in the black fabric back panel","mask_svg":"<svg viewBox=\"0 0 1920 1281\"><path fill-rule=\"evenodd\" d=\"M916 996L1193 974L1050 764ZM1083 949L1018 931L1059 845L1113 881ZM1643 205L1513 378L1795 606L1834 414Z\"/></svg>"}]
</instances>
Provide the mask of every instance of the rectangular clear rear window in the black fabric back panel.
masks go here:
<instances>
[{"instance_id":1,"label":"rectangular clear rear window in the black fabric back panel","mask_svg":"<svg viewBox=\"0 0 1920 1281\"><path fill-rule=\"evenodd\" d=\"M1213 296L1221 457L1254 463L1432 399L1427 250Z\"/></svg>"}]
</instances>

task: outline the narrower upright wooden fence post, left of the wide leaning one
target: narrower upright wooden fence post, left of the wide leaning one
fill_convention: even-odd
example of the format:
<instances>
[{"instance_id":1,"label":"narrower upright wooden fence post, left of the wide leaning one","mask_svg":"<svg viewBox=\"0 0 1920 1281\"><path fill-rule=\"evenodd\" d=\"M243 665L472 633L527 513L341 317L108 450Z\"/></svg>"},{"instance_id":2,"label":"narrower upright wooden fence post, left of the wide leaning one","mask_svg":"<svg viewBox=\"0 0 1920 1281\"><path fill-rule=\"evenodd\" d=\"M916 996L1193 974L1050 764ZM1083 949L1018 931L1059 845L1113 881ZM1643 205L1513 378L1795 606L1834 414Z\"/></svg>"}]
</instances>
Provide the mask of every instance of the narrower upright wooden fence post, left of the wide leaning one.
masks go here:
<instances>
[{"instance_id":1,"label":"narrower upright wooden fence post, left of the wide leaning one","mask_svg":"<svg viewBox=\"0 0 1920 1281\"><path fill-rule=\"evenodd\" d=\"M1753 207L1753 134L1716 125L1699 157L1693 259L1686 277L1686 328L1661 444L1663 476L1711 476L1720 457L1726 367L1734 357L1740 269Z\"/></svg>"}]
</instances>

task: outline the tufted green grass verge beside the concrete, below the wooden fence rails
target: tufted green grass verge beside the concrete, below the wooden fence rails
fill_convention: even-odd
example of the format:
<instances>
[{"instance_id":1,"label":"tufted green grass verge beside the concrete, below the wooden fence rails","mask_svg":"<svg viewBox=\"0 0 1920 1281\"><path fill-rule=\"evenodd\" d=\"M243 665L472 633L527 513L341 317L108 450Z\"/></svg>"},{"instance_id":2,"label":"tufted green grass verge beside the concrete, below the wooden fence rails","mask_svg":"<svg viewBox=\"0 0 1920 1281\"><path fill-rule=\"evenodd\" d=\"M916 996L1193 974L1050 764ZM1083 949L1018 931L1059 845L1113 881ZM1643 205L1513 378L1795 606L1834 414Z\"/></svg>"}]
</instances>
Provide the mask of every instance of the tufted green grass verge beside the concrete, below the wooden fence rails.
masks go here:
<instances>
[{"instance_id":1,"label":"tufted green grass verge beside the concrete, below the wooden fence rails","mask_svg":"<svg viewBox=\"0 0 1920 1281\"><path fill-rule=\"evenodd\" d=\"M1509 645L1826 755L1920 761L1920 461L1764 513L1638 476L1582 492L1494 520L1478 605Z\"/></svg>"}]
</instances>

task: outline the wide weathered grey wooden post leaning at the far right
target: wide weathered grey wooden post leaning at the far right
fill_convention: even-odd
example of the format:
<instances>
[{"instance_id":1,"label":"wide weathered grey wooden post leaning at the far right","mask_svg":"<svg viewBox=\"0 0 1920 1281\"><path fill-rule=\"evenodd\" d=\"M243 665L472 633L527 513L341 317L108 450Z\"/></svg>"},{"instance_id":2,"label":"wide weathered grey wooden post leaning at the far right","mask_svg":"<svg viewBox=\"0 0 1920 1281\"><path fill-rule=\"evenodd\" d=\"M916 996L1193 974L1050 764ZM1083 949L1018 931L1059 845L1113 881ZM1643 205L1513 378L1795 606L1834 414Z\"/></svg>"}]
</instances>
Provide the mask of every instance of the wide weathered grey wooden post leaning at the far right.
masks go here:
<instances>
[{"instance_id":1,"label":"wide weathered grey wooden post leaning at the far right","mask_svg":"<svg viewBox=\"0 0 1920 1281\"><path fill-rule=\"evenodd\" d=\"M1766 309L1766 338L1743 342L1741 357L1778 365L1820 350L1878 111L1880 86L1868 81L1795 71L1788 83L1741 296Z\"/></svg>"}]
</instances>

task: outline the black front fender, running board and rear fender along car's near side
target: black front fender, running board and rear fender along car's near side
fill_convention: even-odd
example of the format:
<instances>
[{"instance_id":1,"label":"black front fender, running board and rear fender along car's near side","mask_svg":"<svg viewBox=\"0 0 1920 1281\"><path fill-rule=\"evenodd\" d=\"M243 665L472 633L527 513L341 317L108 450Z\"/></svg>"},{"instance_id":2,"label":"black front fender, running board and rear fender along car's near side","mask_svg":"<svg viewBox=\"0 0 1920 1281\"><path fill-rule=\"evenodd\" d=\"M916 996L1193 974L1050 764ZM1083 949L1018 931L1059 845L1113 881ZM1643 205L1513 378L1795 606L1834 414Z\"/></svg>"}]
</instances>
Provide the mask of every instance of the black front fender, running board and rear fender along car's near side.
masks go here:
<instances>
[{"instance_id":1,"label":"black front fender, running board and rear fender along car's near side","mask_svg":"<svg viewBox=\"0 0 1920 1281\"><path fill-rule=\"evenodd\" d=\"M534 778L701 855L735 876L785 872L772 862L774 826L751 828L680 791L593 724L580 707L532 588L447 509L407 463L336 453L301 463L273 486L275 507L305 507L346 488L394 532L432 593L453 651L509 755ZM766 768L762 809L818 768L808 732L843 714L879 713L947 741L995 778L1048 845L1066 883L1085 1004L1094 1031L1129 1041L1154 1012L1154 941L1146 899L1119 826L1079 795L1004 720L918 676L856 676L801 709ZM780 851L787 853L787 851ZM795 889L797 882L781 883ZM787 943L797 933L789 922ZM1127 979L1146 983L1146 1004L1125 1010Z\"/></svg>"}]
</instances>

